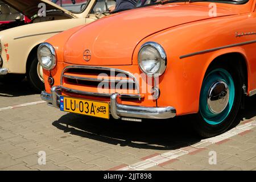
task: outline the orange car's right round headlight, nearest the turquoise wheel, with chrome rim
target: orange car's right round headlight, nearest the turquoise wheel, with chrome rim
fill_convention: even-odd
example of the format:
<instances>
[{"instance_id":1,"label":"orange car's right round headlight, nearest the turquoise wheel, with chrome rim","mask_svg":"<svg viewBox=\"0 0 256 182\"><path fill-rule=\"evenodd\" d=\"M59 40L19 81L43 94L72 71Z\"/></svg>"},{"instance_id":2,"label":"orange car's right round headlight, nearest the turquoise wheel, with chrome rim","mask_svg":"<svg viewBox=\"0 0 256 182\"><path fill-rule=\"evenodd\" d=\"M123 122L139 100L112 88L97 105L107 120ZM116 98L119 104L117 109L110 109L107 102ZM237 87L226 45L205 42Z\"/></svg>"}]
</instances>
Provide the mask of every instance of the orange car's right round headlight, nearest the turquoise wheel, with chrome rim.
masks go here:
<instances>
[{"instance_id":1,"label":"orange car's right round headlight, nearest the turquoise wheel, with chrome rim","mask_svg":"<svg viewBox=\"0 0 256 182\"><path fill-rule=\"evenodd\" d=\"M148 76L160 76L166 71L167 57L162 46L155 42L142 45L138 55L139 68Z\"/></svg>"}]
</instances>

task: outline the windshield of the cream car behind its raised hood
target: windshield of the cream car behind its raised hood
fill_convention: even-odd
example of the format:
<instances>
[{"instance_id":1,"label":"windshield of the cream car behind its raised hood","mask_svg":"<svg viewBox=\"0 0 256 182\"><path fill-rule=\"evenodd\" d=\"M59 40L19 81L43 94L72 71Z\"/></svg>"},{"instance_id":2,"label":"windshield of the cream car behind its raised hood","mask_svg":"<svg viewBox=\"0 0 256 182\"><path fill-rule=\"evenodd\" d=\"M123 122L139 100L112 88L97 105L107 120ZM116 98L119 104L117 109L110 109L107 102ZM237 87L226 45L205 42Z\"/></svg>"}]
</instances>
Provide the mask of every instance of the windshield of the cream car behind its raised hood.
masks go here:
<instances>
[{"instance_id":1,"label":"windshield of the cream car behind its raised hood","mask_svg":"<svg viewBox=\"0 0 256 182\"><path fill-rule=\"evenodd\" d=\"M56 3L56 5L59 5L72 13L81 13L85 10L89 0L51 0L51 2Z\"/></svg>"}]
</instances>

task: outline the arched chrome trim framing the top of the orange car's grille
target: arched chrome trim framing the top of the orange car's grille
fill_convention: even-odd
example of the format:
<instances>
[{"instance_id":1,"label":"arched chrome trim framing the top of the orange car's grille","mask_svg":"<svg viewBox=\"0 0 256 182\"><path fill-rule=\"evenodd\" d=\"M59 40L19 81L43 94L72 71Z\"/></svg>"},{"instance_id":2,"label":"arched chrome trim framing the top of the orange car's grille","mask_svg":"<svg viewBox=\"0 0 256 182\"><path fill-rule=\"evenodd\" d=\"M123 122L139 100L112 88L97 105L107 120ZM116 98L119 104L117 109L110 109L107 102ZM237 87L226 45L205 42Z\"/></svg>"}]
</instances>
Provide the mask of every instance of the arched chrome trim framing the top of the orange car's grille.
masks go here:
<instances>
[{"instance_id":1,"label":"arched chrome trim framing the top of the orange car's grille","mask_svg":"<svg viewBox=\"0 0 256 182\"><path fill-rule=\"evenodd\" d=\"M128 75L130 78L134 79L134 82L135 82L135 84L137 86L138 94L140 94L140 92L139 92L139 82L138 82L137 78L135 76L133 76L133 74L131 74L130 72L127 72L127 71L123 71L122 69L115 69L115 68L109 68L109 67L92 67L92 66L83 66L83 65L71 65L71 66L65 67L63 69L63 72L61 73L60 85L63 85L63 76L64 76L65 71L67 71L67 69L72 69L72 68L77 68L77 69L98 69L98 70L117 71L119 73L124 73L124 74Z\"/></svg>"}]
</instances>

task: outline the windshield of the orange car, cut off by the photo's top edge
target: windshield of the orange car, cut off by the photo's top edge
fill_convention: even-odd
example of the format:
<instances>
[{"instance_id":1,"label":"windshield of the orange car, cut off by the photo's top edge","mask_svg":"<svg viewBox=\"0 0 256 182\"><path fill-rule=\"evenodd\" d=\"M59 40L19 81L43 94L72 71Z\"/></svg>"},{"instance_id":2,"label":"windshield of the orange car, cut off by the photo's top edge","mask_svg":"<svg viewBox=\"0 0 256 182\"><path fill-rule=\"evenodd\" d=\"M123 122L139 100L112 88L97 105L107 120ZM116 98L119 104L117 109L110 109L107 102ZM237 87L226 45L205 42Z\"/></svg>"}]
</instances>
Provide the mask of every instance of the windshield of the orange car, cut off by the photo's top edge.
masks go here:
<instances>
[{"instance_id":1,"label":"windshield of the orange car, cut off by the photo's top edge","mask_svg":"<svg viewBox=\"0 0 256 182\"><path fill-rule=\"evenodd\" d=\"M191 0L191 2L199 2L200 0ZM233 4L242 4L248 0L201 0L209 2L219 2L219 3L233 3ZM156 5L160 3L171 3L171 2L189 2L189 0L139 0L136 7Z\"/></svg>"}]
</instances>

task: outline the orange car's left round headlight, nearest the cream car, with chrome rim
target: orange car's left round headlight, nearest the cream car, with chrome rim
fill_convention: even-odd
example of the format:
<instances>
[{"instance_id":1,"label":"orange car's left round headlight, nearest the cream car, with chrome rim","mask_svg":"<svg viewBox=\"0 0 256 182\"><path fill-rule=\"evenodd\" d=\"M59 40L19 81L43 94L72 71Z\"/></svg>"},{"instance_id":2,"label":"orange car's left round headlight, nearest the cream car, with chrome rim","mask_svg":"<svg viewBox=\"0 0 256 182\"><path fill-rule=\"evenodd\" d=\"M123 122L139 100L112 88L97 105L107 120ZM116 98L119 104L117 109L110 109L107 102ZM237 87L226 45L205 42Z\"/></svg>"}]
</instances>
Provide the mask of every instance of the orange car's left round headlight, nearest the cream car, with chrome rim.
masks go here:
<instances>
[{"instance_id":1,"label":"orange car's left round headlight, nearest the cream car, with chrome rim","mask_svg":"<svg viewBox=\"0 0 256 182\"><path fill-rule=\"evenodd\" d=\"M38 47L38 61L46 70L51 70L56 66L56 52L49 43L42 43Z\"/></svg>"}]
</instances>

